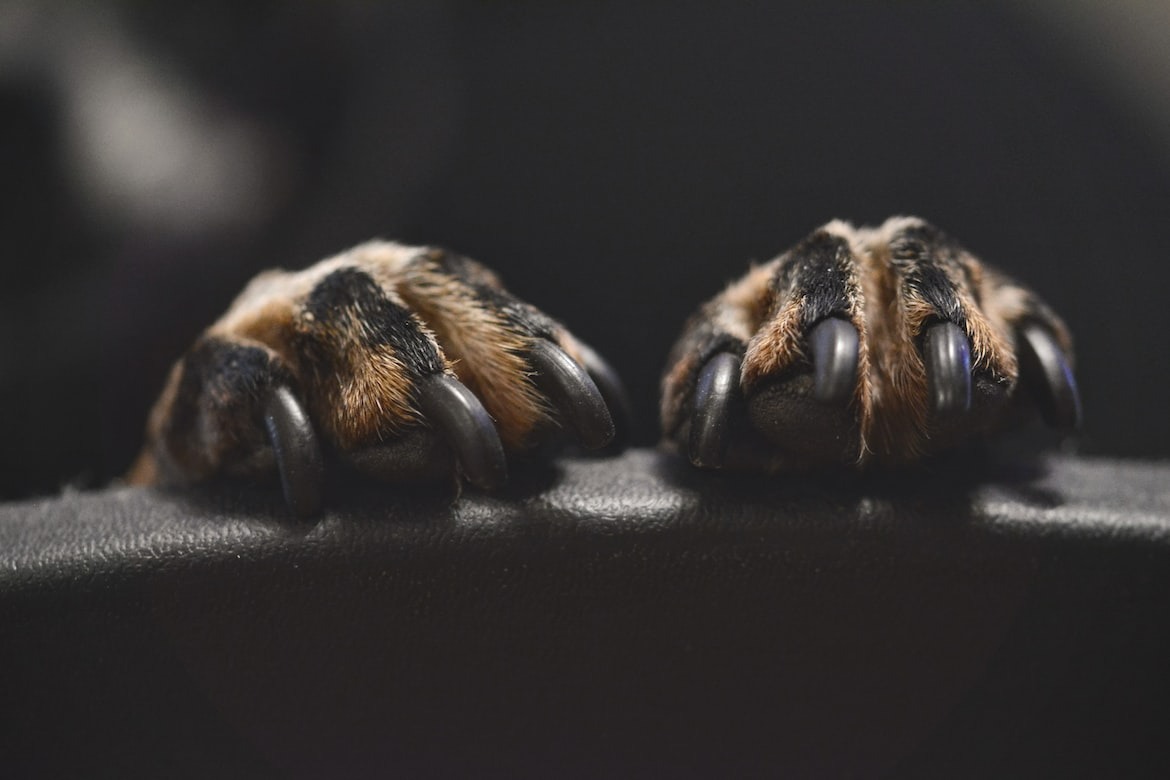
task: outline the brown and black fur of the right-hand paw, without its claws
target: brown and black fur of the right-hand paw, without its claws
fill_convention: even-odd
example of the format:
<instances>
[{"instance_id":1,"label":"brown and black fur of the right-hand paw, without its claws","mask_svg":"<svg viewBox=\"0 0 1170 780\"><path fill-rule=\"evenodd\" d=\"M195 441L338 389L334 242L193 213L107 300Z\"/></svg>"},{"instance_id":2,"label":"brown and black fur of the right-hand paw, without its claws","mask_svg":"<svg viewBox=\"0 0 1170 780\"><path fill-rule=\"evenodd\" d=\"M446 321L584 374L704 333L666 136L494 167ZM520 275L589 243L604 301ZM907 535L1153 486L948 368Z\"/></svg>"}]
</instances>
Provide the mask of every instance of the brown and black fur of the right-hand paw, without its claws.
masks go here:
<instances>
[{"instance_id":1,"label":"brown and black fur of the right-hand paw, without its claws","mask_svg":"<svg viewBox=\"0 0 1170 780\"><path fill-rule=\"evenodd\" d=\"M840 407L810 396L806 336L831 316L851 323L860 341L856 385ZM928 403L922 334L940 320L970 343L972 405L957 420L936 419ZM729 352L742 360L743 405L725 468L908 463L1019 417L1026 401L1017 392L1017 337L1025 324L1045 329L1071 356L1068 330L1047 305L934 226L917 218L878 228L833 221L750 269L688 320L662 379L665 443L687 450L698 372ZM759 422L764 395L770 409L782 409L776 424Z\"/></svg>"}]
</instances>

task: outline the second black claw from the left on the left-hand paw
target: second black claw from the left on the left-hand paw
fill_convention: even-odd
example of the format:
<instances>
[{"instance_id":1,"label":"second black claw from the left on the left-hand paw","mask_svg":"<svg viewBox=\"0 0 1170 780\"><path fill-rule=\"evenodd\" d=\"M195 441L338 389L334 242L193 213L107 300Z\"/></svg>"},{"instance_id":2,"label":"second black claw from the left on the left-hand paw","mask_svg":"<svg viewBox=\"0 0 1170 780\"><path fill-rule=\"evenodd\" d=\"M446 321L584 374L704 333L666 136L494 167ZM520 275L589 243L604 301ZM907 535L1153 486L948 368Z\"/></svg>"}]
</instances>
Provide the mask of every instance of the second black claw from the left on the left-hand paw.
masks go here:
<instances>
[{"instance_id":1,"label":"second black claw from the left on the left-hand paw","mask_svg":"<svg viewBox=\"0 0 1170 780\"><path fill-rule=\"evenodd\" d=\"M447 374L428 374L415 388L419 408L455 450L468 482L484 490L502 485L508 479L504 448L480 399Z\"/></svg>"}]
</instances>

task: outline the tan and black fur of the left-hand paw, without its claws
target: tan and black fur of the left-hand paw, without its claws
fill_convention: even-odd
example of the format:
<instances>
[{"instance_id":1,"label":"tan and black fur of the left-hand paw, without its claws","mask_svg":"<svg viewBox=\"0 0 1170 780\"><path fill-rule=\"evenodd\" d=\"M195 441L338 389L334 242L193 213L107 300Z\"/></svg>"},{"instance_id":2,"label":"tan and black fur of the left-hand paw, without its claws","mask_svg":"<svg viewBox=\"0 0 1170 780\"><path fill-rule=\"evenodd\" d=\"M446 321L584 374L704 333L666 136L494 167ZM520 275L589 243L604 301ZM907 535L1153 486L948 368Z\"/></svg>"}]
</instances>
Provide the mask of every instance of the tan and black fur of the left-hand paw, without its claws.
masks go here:
<instances>
[{"instance_id":1,"label":"tan and black fur of the left-hand paw, without its claws","mask_svg":"<svg viewBox=\"0 0 1170 780\"><path fill-rule=\"evenodd\" d=\"M273 475L262 402L275 385L292 389L343 460L411 442L411 456L378 475L387 479L453 468L418 402L431 374L480 399L505 450L529 450L562 427L526 358L538 339L579 363L589 351L490 270L440 249L374 241L302 271L266 271L174 365L128 479Z\"/></svg>"}]
</instances>

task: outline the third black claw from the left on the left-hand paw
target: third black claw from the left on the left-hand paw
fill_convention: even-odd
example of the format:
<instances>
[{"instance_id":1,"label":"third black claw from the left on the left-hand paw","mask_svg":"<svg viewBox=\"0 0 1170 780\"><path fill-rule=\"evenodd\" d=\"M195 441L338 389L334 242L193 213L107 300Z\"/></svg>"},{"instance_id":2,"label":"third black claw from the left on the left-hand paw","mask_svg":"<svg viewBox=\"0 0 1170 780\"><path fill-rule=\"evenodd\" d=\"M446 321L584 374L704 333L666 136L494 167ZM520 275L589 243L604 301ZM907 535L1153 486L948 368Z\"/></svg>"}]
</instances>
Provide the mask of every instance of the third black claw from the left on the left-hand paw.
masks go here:
<instances>
[{"instance_id":1,"label":"third black claw from the left on the left-hand paw","mask_svg":"<svg viewBox=\"0 0 1170 780\"><path fill-rule=\"evenodd\" d=\"M613 417L601 391L585 370L552 341L537 339L529 352L536 370L532 381L565 415L586 449L599 449L613 441Z\"/></svg>"}]
</instances>

